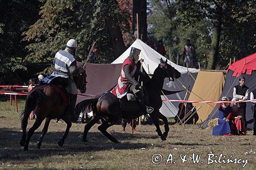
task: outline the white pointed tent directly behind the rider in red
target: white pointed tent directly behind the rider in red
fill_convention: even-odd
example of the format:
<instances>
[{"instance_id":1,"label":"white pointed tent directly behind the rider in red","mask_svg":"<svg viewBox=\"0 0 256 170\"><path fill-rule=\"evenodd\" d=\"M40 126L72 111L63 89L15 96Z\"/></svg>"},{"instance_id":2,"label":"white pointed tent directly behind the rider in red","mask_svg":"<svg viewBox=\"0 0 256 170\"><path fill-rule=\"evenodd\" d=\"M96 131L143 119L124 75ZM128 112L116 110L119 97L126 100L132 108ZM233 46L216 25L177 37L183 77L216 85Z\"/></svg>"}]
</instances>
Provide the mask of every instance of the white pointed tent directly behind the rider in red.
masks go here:
<instances>
[{"instance_id":1,"label":"white pointed tent directly behind the rider in red","mask_svg":"<svg viewBox=\"0 0 256 170\"><path fill-rule=\"evenodd\" d=\"M140 39L137 39L120 57L118 57L115 61L113 61L112 64L123 63L123 61L129 56L132 47L136 47L141 50L139 59L143 59L142 66L148 74L153 74L154 70L157 68L158 64L160 63L160 58L164 59L164 61L166 60L165 57L160 55L153 48L148 46L146 43L144 43ZM181 78L179 78L175 82L169 82L169 79L166 78L164 81L163 88L165 90L178 91L178 90L184 90L184 86L186 88L190 86L189 89L192 89L195 83L197 72L199 70L195 68L187 69L186 67L177 65L170 60L168 60L168 64L175 67L178 71L181 72L182 75L181 75ZM180 92L180 93L171 94L168 96L162 96L162 99L168 98L173 100L183 100L185 93L186 92ZM178 112L178 103L164 102L162 108L160 109L160 112L167 117L174 117Z\"/></svg>"}]
</instances>

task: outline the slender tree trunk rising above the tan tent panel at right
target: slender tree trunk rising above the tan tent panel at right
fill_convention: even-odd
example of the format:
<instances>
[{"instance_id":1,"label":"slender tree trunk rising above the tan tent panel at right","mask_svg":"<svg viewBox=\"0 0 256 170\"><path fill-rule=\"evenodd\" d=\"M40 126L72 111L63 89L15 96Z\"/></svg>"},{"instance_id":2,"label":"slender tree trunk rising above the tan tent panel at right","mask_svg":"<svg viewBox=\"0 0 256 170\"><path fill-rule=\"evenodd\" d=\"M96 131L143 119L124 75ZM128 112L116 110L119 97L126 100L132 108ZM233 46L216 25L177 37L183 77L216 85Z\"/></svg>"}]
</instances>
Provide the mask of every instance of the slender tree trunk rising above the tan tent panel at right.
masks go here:
<instances>
[{"instance_id":1,"label":"slender tree trunk rising above the tan tent panel at right","mask_svg":"<svg viewBox=\"0 0 256 170\"><path fill-rule=\"evenodd\" d=\"M212 39L211 39L210 56L209 56L209 61L206 69L215 69L216 67L216 63L219 55L221 24L222 24L222 16L220 16L214 22L214 32L212 34Z\"/></svg>"}]
</instances>

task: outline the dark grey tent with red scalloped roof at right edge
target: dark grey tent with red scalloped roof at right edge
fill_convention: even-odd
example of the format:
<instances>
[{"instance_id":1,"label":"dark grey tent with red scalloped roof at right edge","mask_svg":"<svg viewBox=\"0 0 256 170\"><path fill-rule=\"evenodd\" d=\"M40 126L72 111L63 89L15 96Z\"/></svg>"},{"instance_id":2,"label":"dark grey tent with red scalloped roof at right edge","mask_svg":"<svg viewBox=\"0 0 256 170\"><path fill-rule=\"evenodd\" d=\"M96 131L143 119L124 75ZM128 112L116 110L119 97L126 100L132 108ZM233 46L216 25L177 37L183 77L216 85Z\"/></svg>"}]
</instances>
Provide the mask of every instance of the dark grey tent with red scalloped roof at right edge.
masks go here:
<instances>
[{"instance_id":1,"label":"dark grey tent with red scalloped roof at right edge","mask_svg":"<svg viewBox=\"0 0 256 170\"><path fill-rule=\"evenodd\" d=\"M251 90L256 87L256 53L247 56L237 62L231 64L227 69L227 76L224 84L224 88L222 94L220 95L219 100L221 100L222 96L231 97L233 96L233 87L239 84L239 76L245 77L245 85L249 87L249 96ZM253 112L252 112L252 104L247 102L246 104L246 120L247 127L252 128L253 126ZM219 111L217 106L212 110L208 118L200 125L200 127L207 127L209 120L216 118L219 116Z\"/></svg>"}]
</instances>

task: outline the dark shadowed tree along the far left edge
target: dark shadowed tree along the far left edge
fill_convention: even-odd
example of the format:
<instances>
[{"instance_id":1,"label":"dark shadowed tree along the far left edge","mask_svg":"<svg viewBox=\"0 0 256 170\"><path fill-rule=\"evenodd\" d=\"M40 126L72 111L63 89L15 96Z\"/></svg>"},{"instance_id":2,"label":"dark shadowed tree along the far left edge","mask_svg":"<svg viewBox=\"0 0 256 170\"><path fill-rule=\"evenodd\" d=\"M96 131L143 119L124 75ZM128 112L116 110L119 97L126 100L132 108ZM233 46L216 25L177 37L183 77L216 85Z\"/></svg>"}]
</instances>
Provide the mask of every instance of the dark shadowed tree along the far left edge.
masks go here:
<instances>
[{"instance_id":1,"label":"dark shadowed tree along the far left edge","mask_svg":"<svg viewBox=\"0 0 256 170\"><path fill-rule=\"evenodd\" d=\"M0 1L0 84L22 82L27 54L22 33L38 18L38 1Z\"/></svg>"}]
</instances>

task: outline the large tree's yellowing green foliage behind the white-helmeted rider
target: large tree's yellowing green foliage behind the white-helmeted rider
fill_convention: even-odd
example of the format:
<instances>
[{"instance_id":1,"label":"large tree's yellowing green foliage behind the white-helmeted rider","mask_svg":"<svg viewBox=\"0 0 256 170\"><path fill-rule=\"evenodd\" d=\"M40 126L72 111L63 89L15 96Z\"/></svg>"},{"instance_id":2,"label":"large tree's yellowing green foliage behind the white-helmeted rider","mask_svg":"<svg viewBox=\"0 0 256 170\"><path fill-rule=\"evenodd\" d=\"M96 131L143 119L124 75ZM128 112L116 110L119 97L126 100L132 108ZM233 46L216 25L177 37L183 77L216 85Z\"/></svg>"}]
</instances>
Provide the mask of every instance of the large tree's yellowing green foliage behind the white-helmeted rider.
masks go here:
<instances>
[{"instance_id":1,"label":"large tree's yellowing green foliage behind the white-helmeted rider","mask_svg":"<svg viewBox=\"0 0 256 170\"><path fill-rule=\"evenodd\" d=\"M52 62L58 50L64 49L70 38L78 41L77 57L86 59L93 41L98 48L95 63L110 63L114 58L106 22L118 18L116 25L125 22L125 13L112 1L49 0L41 8L41 15L24 33L29 62Z\"/></svg>"}]
</instances>

